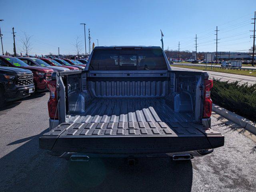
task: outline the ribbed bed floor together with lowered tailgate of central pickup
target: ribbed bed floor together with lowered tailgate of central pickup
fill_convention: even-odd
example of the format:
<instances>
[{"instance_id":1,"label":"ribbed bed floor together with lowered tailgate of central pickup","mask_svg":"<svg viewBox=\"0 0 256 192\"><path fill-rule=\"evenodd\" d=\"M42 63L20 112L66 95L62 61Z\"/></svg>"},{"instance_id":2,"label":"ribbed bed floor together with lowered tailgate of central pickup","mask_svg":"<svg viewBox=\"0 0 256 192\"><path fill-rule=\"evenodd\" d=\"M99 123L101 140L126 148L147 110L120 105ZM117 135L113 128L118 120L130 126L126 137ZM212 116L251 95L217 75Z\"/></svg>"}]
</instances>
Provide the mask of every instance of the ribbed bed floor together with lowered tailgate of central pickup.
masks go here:
<instances>
[{"instance_id":1,"label":"ribbed bed floor together with lowered tailgate of central pickup","mask_svg":"<svg viewBox=\"0 0 256 192\"><path fill-rule=\"evenodd\" d=\"M223 146L224 136L174 112L165 98L95 98L40 137L40 148L105 154L171 153Z\"/></svg>"}]
</instances>

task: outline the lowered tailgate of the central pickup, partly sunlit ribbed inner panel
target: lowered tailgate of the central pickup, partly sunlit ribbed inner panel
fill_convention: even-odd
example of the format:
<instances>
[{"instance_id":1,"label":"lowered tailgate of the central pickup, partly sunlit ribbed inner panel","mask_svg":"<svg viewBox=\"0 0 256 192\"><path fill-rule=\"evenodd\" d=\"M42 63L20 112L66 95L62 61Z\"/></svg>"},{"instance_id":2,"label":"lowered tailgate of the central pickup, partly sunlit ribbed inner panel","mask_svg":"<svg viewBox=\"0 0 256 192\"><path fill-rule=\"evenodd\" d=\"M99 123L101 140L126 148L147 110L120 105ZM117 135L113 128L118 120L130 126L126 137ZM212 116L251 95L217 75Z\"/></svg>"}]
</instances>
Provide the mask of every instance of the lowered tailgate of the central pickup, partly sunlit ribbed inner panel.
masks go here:
<instances>
[{"instance_id":1,"label":"lowered tailgate of the central pickup, partly sunlit ribbed inner panel","mask_svg":"<svg viewBox=\"0 0 256 192\"><path fill-rule=\"evenodd\" d=\"M40 148L81 153L171 153L224 145L224 136L188 122L62 123L39 138Z\"/></svg>"}]
</instances>

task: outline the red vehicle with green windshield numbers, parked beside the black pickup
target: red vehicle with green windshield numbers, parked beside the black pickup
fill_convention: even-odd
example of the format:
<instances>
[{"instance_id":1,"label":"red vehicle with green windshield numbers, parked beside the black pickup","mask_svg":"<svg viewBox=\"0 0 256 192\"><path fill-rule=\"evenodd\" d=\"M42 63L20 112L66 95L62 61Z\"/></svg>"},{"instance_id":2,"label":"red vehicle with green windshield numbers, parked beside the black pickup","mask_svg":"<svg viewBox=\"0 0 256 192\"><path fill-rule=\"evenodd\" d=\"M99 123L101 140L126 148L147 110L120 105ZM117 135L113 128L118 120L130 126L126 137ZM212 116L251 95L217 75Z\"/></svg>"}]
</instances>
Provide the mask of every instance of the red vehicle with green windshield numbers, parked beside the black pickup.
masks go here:
<instances>
[{"instance_id":1,"label":"red vehicle with green windshield numbers, parked beside the black pickup","mask_svg":"<svg viewBox=\"0 0 256 192\"><path fill-rule=\"evenodd\" d=\"M33 72L34 84L38 92L48 90L47 83L52 80L53 70L46 67L29 66L22 60L12 57L12 56L0 56L0 62L2 61L2 66L18 67L23 69L28 69Z\"/></svg>"}]
</instances>

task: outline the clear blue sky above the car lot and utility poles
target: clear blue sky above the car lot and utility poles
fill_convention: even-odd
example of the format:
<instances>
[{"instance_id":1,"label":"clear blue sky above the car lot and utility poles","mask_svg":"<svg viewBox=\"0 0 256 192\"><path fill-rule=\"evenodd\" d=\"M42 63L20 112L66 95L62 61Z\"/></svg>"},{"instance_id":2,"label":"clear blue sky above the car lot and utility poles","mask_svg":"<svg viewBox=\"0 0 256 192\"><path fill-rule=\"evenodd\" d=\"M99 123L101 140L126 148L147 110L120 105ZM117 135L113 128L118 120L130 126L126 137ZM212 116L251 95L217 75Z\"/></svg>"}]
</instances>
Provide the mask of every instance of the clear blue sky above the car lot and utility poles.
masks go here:
<instances>
[{"instance_id":1,"label":"clear blue sky above the car lot and utility poles","mask_svg":"<svg viewBox=\"0 0 256 192\"><path fill-rule=\"evenodd\" d=\"M24 32L32 36L30 54L75 54L80 36L88 52L88 28L91 42L97 46L161 46L164 49L246 52L252 47L255 0L1 0L0 22L4 52L13 53L12 27L16 32L16 52L22 50ZM91 43L91 44L92 44ZM1 50L2 51L2 50ZM85 50L83 51L85 52Z\"/></svg>"}]
</instances>

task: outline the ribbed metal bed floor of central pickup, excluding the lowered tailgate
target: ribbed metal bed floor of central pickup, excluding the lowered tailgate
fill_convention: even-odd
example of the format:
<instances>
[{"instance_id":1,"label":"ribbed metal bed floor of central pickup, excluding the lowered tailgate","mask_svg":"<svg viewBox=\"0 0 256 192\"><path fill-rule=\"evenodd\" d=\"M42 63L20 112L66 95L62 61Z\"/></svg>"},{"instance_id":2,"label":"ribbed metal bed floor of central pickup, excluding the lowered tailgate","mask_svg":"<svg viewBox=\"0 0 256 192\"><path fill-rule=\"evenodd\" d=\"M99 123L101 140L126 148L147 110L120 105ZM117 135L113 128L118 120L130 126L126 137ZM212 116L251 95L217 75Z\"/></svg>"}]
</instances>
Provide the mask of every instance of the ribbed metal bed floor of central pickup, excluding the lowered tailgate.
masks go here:
<instances>
[{"instance_id":1,"label":"ribbed metal bed floor of central pickup, excluding the lowered tailgate","mask_svg":"<svg viewBox=\"0 0 256 192\"><path fill-rule=\"evenodd\" d=\"M96 98L84 114L66 122L192 122L192 114L174 112L165 98Z\"/></svg>"}]
</instances>

